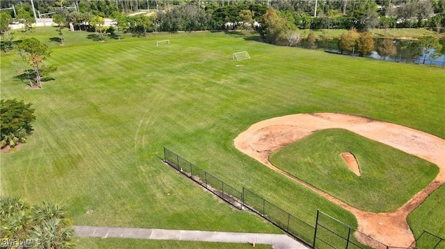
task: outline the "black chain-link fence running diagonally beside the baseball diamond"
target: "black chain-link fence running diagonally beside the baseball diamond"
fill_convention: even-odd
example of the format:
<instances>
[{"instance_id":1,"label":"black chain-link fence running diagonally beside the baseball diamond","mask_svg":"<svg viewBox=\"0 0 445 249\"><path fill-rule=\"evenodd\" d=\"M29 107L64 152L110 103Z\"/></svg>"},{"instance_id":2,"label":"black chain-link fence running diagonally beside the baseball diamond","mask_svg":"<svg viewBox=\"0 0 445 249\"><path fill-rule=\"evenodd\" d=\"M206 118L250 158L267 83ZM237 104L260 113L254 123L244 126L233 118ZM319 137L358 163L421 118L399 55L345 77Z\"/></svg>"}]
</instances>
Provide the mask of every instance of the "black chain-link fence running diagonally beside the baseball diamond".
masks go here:
<instances>
[{"instance_id":1,"label":"black chain-link fence running diagonally beside the baseball diamond","mask_svg":"<svg viewBox=\"0 0 445 249\"><path fill-rule=\"evenodd\" d=\"M385 245L355 230L336 218L317 210L315 226L309 225L300 218L284 211L265 198L243 187L238 191L222 180L191 164L179 155L164 148L164 162L193 181L208 189L216 196L238 209L249 209L259 214L270 223L301 241L309 248L318 249L443 249L445 239L423 231L408 248L397 248ZM361 242L360 242L361 241ZM364 243L369 246L364 246ZM416 246L421 247L416 247Z\"/></svg>"}]
</instances>

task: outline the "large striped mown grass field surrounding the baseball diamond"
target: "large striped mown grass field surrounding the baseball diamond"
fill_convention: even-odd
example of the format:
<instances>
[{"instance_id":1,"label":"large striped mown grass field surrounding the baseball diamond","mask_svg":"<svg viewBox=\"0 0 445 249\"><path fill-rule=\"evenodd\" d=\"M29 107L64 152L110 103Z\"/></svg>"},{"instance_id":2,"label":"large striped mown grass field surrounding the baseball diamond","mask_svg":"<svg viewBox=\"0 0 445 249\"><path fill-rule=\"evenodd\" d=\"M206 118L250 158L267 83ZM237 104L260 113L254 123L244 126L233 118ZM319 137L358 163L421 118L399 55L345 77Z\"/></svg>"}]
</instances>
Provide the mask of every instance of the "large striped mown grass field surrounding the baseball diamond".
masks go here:
<instances>
[{"instance_id":1,"label":"large striped mown grass field surrounding the baseball diamond","mask_svg":"<svg viewBox=\"0 0 445 249\"><path fill-rule=\"evenodd\" d=\"M356 226L349 212L237 151L234 137L257 121L302 112L359 114L445 137L443 69L278 47L238 33L95 42L90 33L66 32L63 46L49 41L55 28L32 35L50 45L47 62L58 71L44 89L30 90L14 78L14 53L1 55L1 98L33 103L37 116L28 143L1 155L1 194L66 202L77 225L280 232L162 164L166 146L307 223L322 209ZM171 45L156 48L165 39ZM252 59L232 61L237 51ZM432 195L439 201L428 198L410 216L416 234L445 237L444 188Z\"/></svg>"}]
</instances>

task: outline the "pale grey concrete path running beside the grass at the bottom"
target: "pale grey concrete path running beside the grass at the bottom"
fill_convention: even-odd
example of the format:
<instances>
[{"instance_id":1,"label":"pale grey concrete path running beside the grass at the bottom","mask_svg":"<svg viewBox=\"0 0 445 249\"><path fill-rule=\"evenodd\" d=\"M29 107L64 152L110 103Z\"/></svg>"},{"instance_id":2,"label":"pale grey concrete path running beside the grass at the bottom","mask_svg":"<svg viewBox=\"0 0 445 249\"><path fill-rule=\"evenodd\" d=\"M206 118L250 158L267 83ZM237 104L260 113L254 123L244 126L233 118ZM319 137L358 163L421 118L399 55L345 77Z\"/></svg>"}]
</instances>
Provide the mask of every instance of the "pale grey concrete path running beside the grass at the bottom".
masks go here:
<instances>
[{"instance_id":1,"label":"pale grey concrete path running beside the grass at the bottom","mask_svg":"<svg viewBox=\"0 0 445 249\"><path fill-rule=\"evenodd\" d=\"M284 234L254 234L244 232L207 232L193 230L163 230L131 227L90 227L73 225L79 237L163 239L222 243L252 243L271 245L275 249L307 249L302 243Z\"/></svg>"}]
</instances>

